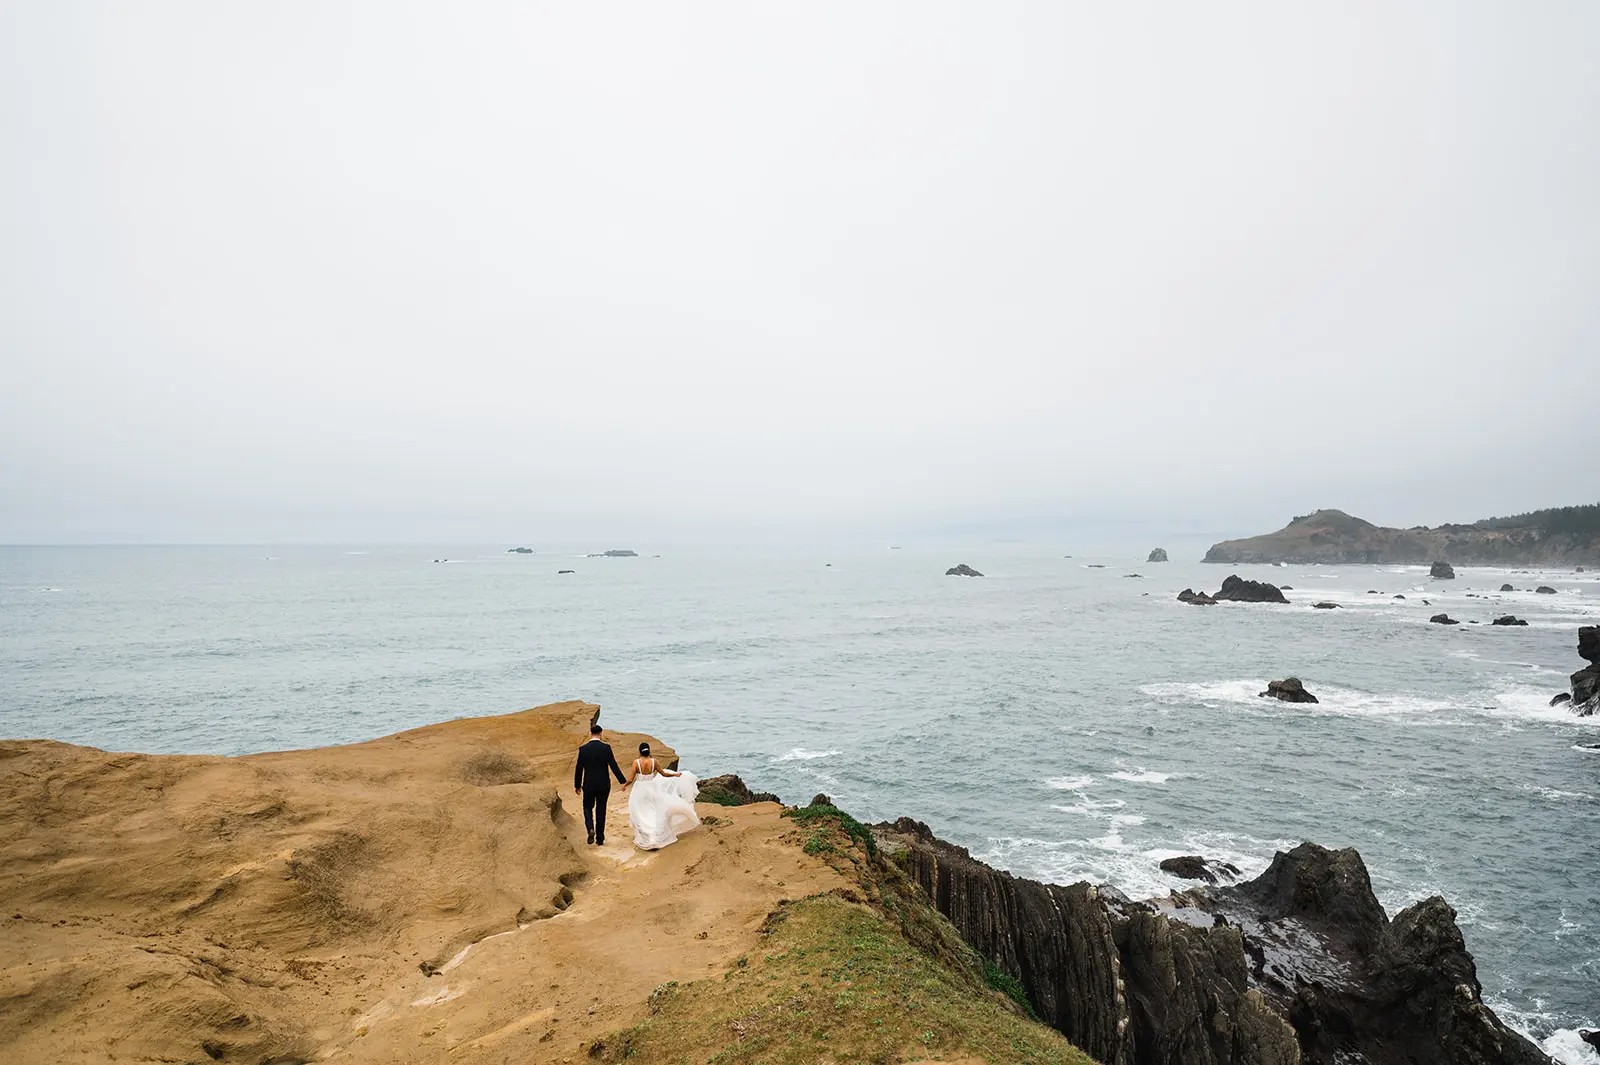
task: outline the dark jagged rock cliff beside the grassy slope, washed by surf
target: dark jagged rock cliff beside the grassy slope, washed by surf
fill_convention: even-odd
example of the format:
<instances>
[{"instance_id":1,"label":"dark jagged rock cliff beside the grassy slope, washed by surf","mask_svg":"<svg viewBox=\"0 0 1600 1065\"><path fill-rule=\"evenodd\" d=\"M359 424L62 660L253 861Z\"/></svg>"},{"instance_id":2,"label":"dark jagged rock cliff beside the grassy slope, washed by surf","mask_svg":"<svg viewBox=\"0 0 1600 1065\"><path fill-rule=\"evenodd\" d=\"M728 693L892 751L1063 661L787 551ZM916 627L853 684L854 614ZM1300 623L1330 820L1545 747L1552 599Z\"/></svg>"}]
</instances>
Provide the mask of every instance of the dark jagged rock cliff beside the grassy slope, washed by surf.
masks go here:
<instances>
[{"instance_id":1,"label":"dark jagged rock cliff beside the grassy slope, washed by surf","mask_svg":"<svg viewBox=\"0 0 1600 1065\"><path fill-rule=\"evenodd\" d=\"M1442 899L1384 915L1355 851L1301 844L1254 881L1133 902L877 828L933 905L1106 1065L1549 1065L1483 1004Z\"/></svg>"}]
</instances>

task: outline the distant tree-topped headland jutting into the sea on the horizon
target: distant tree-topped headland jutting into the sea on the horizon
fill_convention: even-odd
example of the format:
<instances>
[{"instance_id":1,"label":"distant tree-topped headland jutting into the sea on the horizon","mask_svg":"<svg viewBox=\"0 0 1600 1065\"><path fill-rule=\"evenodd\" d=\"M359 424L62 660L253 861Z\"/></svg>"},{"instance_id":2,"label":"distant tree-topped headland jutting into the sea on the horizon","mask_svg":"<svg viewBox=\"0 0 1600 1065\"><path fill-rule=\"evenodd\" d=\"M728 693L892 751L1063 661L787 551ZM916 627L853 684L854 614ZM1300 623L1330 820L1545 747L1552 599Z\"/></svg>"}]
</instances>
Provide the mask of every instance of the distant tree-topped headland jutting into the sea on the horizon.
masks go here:
<instances>
[{"instance_id":1,"label":"distant tree-topped headland jutting into the sea on the horizon","mask_svg":"<svg viewBox=\"0 0 1600 1065\"><path fill-rule=\"evenodd\" d=\"M1509 566L1600 564L1600 504L1411 529L1378 526L1342 510L1317 510L1277 532L1222 540L1205 553L1208 563L1229 564L1426 566L1438 560Z\"/></svg>"}]
</instances>

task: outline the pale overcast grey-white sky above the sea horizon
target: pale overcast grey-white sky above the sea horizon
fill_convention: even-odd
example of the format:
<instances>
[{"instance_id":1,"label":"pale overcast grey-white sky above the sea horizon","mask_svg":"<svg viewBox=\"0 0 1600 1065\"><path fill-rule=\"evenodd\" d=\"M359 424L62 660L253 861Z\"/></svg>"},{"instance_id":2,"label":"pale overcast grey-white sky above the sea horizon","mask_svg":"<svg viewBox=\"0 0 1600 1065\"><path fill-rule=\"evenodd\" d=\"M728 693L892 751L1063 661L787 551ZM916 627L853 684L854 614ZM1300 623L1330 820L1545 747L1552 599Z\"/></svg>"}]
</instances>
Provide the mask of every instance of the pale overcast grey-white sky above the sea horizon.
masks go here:
<instances>
[{"instance_id":1,"label":"pale overcast grey-white sky above the sea horizon","mask_svg":"<svg viewBox=\"0 0 1600 1065\"><path fill-rule=\"evenodd\" d=\"M1600 501L1600 5L0 3L0 542Z\"/></svg>"}]
</instances>

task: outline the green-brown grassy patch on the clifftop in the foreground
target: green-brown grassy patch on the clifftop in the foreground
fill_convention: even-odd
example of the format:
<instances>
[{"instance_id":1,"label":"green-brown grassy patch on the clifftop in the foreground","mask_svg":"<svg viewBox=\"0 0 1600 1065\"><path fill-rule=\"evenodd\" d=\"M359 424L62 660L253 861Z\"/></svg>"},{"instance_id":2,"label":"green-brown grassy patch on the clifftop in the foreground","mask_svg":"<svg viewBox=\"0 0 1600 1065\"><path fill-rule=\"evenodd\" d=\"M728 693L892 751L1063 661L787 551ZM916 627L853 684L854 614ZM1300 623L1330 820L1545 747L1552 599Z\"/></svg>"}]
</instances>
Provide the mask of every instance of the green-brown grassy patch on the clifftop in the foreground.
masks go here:
<instances>
[{"instance_id":1,"label":"green-brown grassy patch on the clifftop in the foreground","mask_svg":"<svg viewBox=\"0 0 1600 1065\"><path fill-rule=\"evenodd\" d=\"M786 903L722 977L662 985L608 1062L816 1065L982 1059L1093 1065L1059 1033L837 895Z\"/></svg>"}]
</instances>

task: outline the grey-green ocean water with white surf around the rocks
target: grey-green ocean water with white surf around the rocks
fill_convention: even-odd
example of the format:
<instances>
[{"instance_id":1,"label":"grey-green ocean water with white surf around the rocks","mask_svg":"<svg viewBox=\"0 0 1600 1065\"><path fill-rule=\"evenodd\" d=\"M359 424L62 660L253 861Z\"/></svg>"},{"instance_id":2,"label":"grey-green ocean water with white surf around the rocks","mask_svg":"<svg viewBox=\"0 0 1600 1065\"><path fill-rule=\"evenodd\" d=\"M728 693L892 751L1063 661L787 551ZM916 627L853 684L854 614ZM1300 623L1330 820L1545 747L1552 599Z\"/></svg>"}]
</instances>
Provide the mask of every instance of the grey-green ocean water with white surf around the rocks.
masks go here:
<instances>
[{"instance_id":1,"label":"grey-green ocean water with white surf around the rocks","mask_svg":"<svg viewBox=\"0 0 1600 1065\"><path fill-rule=\"evenodd\" d=\"M696 772L910 814L1024 876L1147 895L1176 854L1253 875L1355 846L1390 911L1450 899L1502 1017L1600 1062L1574 1035L1600 1025L1600 755L1576 747L1600 718L1547 705L1600 574L640 550L0 548L0 736L243 753L589 699ZM1173 598L1232 571L1293 606ZM1288 675L1322 702L1258 697Z\"/></svg>"}]
</instances>

